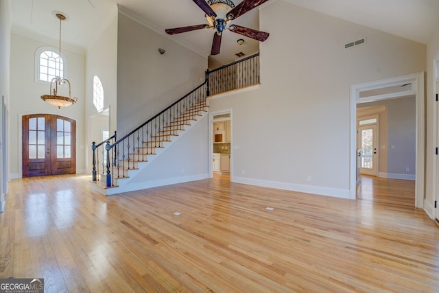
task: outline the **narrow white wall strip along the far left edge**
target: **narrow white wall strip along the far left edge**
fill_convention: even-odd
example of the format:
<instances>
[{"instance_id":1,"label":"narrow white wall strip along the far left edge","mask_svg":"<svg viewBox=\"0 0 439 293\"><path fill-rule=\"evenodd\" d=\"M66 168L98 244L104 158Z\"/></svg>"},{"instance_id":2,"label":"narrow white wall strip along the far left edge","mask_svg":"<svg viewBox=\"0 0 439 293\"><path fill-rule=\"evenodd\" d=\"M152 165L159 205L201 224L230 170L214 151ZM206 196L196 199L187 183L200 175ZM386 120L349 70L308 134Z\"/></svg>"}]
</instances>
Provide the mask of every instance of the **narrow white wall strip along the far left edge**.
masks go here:
<instances>
[{"instance_id":1,"label":"narrow white wall strip along the far left edge","mask_svg":"<svg viewBox=\"0 0 439 293\"><path fill-rule=\"evenodd\" d=\"M1 98L4 97L7 109L9 108L9 98L10 98L10 1L0 1L0 107ZM0 212L4 209L5 203L5 191L8 190L8 178L9 178L9 168L5 166L7 164L6 160L3 160L3 151L8 151L8 137L3 141L3 119L5 124L8 124L7 117L3 117L0 110ZM8 132L4 133L5 136ZM5 158L8 157L6 154ZM3 169L6 169L6 174L3 174Z\"/></svg>"}]
</instances>

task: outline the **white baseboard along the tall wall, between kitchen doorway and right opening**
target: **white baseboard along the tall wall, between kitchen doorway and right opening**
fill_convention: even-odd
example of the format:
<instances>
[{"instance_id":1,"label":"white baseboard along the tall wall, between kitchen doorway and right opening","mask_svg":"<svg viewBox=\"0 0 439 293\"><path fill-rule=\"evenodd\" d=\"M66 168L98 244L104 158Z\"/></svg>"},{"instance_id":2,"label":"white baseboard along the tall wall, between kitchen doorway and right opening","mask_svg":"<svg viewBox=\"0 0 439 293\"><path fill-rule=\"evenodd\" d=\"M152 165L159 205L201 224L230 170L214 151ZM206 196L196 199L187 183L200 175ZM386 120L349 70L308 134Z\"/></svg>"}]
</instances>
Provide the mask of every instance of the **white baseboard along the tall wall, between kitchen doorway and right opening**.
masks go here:
<instances>
[{"instance_id":1,"label":"white baseboard along the tall wall, between kitchen doorway and right opening","mask_svg":"<svg viewBox=\"0 0 439 293\"><path fill-rule=\"evenodd\" d=\"M312 185L302 185L296 183L286 183L271 180L260 180L244 177L233 177L233 182L248 185L256 185L261 187L283 189L296 192L304 192L307 194L317 194L320 196L333 196L335 198L349 198L349 189L337 189L330 187L319 187Z\"/></svg>"}]
</instances>

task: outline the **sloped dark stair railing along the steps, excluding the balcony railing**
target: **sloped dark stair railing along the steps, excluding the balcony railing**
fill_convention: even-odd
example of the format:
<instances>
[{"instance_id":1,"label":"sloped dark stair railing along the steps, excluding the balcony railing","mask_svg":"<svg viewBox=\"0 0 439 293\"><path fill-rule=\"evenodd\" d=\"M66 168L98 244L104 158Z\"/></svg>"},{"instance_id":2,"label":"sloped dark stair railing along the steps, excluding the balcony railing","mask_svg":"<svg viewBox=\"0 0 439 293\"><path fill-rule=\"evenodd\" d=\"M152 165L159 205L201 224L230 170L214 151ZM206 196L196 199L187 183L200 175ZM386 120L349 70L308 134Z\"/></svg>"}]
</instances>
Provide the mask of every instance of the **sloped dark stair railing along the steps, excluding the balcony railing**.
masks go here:
<instances>
[{"instance_id":1,"label":"sloped dark stair railing along the steps, excluding the balcony railing","mask_svg":"<svg viewBox=\"0 0 439 293\"><path fill-rule=\"evenodd\" d=\"M137 163L147 162L148 155L155 154L157 148L163 148L183 126L195 120L204 110L206 89L204 81L121 139L106 142L106 187L115 186L115 178L127 177L128 170L137 169Z\"/></svg>"}]
</instances>

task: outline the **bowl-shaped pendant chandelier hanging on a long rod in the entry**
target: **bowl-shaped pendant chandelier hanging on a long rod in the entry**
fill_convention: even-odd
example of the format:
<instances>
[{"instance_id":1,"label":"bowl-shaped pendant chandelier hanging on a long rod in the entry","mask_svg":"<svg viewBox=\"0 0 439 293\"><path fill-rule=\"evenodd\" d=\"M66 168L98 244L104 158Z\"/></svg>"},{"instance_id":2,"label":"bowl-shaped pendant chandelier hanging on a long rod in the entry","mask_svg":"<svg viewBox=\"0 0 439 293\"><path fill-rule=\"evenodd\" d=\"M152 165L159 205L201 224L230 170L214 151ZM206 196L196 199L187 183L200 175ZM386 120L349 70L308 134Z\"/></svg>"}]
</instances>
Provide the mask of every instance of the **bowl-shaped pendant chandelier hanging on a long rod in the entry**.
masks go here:
<instances>
[{"instance_id":1,"label":"bowl-shaped pendant chandelier hanging on a long rod in the entry","mask_svg":"<svg viewBox=\"0 0 439 293\"><path fill-rule=\"evenodd\" d=\"M66 19L66 16L60 13L56 13L55 15L60 20L60 47L58 53L60 54L60 58L61 58L61 23ZM64 84L67 84L69 86L68 97L58 95L58 86L62 86ZM69 80L67 80L67 78L62 78L60 76L57 76L56 78L52 78L50 82L49 95L42 95L41 99L51 104L52 106L56 106L58 108L73 105L78 101L78 97L71 97L71 86Z\"/></svg>"}]
</instances>

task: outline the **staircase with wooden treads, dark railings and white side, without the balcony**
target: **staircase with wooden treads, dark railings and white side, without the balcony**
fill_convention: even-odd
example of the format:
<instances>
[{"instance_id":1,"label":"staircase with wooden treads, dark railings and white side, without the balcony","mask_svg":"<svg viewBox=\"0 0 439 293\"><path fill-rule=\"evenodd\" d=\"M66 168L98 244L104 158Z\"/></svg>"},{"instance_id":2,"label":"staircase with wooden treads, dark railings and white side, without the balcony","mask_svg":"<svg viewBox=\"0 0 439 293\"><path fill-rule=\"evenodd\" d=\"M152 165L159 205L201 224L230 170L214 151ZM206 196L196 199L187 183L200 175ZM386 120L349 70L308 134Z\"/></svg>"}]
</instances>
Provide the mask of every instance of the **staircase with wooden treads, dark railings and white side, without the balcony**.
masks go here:
<instances>
[{"instance_id":1,"label":"staircase with wooden treads, dark railings and white side, without the balcony","mask_svg":"<svg viewBox=\"0 0 439 293\"><path fill-rule=\"evenodd\" d=\"M115 134L93 143L91 188L105 195L144 189L132 179L206 117L208 108L204 82L122 139Z\"/></svg>"}]
</instances>

